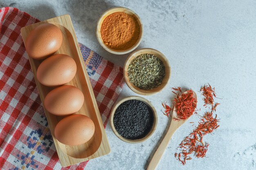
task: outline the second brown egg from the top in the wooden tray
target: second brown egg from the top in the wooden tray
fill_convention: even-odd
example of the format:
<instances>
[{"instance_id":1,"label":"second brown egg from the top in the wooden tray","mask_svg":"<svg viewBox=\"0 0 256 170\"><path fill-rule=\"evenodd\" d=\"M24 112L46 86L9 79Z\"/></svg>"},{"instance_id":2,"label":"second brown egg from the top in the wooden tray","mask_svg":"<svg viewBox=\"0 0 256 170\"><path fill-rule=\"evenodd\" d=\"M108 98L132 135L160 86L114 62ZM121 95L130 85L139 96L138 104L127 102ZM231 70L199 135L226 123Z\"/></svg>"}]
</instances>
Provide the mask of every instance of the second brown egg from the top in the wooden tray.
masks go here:
<instances>
[{"instance_id":1,"label":"second brown egg from the top in the wooden tray","mask_svg":"<svg viewBox=\"0 0 256 170\"><path fill-rule=\"evenodd\" d=\"M37 69L37 79L45 86L60 86L76 75L76 62L68 55L56 54L45 59Z\"/></svg>"}]
</instances>

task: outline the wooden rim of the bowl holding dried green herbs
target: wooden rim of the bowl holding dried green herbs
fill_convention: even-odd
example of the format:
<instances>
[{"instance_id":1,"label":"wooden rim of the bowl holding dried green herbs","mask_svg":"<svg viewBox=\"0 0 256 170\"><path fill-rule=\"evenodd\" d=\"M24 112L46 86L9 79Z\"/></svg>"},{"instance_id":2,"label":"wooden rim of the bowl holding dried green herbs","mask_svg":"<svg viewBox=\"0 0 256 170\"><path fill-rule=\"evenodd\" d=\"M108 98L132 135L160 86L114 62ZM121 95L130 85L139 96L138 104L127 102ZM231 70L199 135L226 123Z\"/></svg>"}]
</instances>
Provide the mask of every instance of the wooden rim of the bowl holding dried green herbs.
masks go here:
<instances>
[{"instance_id":1,"label":"wooden rim of the bowl holding dried green herbs","mask_svg":"<svg viewBox=\"0 0 256 170\"><path fill-rule=\"evenodd\" d=\"M162 87L159 88L157 91L151 91L151 90L144 90L144 89L139 89L139 88L134 88L133 84L130 82L130 79L128 78L128 76L126 76L126 71L128 70L128 66L130 64L130 58L133 57L136 53L139 53L139 52L143 52L143 51L150 51L150 53L154 52L154 53L157 53L158 55L160 55L162 57L162 59L165 61L166 65L168 68L166 68L168 70L168 74L166 74L165 76L168 76L167 79L166 79L166 82L163 83ZM145 53L148 53L148 52L145 52ZM157 56L156 56L157 57ZM159 57L158 57L159 58ZM168 61L168 59L165 57L165 55L163 53L161 53L160 51L157 51L156 49L151 49L151 48L144 48L144 49L138 49L136 51L134 51L133 53L131 53L129 55L129 57L126 59L125 63L124 63L124 68L123 68L123 75L124 75L124 80L127 84L127 86L132 90L134 91L135 93L139 94L139 95L153 95L155 93L158 93L160 91L162 91L166 85L168 84L168 82L170 81L171 79L171 65ZM160 85L161 86L161 85ZM139 90L138 90L139 89ZM154 88L153 88L154 89Z\"/></svg>"}]
</instances>

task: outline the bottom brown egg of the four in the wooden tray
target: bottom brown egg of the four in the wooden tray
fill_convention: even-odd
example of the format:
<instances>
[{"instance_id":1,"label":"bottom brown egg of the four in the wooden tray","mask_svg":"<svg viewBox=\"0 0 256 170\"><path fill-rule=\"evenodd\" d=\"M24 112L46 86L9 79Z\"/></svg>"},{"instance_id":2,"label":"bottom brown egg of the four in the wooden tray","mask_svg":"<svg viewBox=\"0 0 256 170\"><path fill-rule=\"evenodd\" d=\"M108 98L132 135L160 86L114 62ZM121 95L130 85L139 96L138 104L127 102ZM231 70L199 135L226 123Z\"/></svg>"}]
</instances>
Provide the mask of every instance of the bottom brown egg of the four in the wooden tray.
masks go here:
<instances>
[{"instance_id":1,"label":"bottom brown egg of the four in the wooden tray","mask_svg":"<svg viewBox=\"0 0 256 170\"><path fill-rule=\"evenodd\" d=\"M56 139L65 145L80 145L89 141L95 126L85 115L70 115L58 122L54 129Z\"/></svg>"}]
</instances>

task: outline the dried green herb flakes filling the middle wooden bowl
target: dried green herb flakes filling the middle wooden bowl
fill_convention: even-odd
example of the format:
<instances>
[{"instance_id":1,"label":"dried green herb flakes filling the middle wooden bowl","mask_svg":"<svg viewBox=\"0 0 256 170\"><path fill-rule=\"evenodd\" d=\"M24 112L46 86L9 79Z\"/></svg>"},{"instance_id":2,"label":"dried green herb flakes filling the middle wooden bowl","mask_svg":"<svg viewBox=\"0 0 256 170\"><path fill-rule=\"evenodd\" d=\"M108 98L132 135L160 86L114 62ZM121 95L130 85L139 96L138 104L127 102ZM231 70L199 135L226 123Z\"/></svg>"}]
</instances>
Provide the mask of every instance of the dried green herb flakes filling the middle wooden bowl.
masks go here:
<instances>
[{"instance_id":1,"label":"dried green herb flakes filling the middle wooden bowl","mask_svg":"<svg viewBox=\"0 0 256 170\"><path fill-rule=\"evenodd\" d=\"M152 54L141 54L128 66L130 82L144 90L153 89L162 84L164 75L164 64Z\"/></svg>"}]
</instances>

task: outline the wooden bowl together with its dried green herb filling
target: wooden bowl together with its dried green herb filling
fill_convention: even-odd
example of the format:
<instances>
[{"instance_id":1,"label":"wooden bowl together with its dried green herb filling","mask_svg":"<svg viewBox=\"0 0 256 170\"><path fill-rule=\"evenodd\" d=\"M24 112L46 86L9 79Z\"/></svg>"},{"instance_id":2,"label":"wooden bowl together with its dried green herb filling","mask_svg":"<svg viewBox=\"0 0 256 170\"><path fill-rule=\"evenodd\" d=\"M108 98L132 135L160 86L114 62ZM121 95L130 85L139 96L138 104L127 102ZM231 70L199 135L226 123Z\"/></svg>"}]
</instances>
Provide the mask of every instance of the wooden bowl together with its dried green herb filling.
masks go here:
<instances>
[{"instance_id":1,"label":"wooden bowl together with its dried green herb filling","mask_svg":"<svg viewBox=\"0 0 256 170\"><path fill-rule=\"evenodd\" d=\"M124 79L128 87L139 95L161 91L171 77L167 58L155 49L139 49L124 64Z\"/></svg>"}]
</instances>

